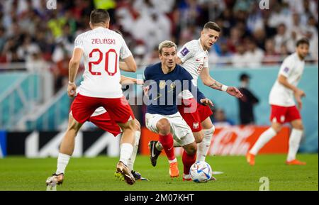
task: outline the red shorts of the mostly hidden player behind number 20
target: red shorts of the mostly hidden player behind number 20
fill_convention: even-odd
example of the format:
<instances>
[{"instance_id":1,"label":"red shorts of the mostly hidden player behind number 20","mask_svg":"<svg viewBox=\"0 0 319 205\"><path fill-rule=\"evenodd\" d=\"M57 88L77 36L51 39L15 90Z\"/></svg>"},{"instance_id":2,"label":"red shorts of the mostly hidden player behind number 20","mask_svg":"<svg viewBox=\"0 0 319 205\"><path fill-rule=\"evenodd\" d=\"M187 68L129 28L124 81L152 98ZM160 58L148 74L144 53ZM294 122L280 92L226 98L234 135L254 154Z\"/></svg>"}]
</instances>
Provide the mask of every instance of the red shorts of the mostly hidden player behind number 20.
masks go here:
<instances>
[{"instance_id":1,"label":"red shorts of the mostly hidden player behind number 20","mask_svg":"<svg viewBox=\"0 0 319 205\"><path fill-rule=\"evenodd\" d=\"M108 114L108 112L98 116L91 116L89 118L89 121L91 121L91 123L94 123L94 125L98 126L102 130L111 133L112 135L114 135L114 137L121 133L120 126L118 126L118 124L115 123L115 121L111 120L111 117Z\"/></svg>"}]
</instances>

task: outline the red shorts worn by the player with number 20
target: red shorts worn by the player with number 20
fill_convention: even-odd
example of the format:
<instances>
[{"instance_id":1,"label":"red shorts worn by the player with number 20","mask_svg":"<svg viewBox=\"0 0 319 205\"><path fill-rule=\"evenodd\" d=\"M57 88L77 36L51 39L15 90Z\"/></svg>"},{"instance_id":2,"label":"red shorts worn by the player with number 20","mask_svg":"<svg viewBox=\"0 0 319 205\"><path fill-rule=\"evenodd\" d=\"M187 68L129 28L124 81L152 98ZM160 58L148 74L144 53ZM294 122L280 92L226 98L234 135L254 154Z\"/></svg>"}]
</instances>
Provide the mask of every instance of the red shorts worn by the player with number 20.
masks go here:
<instances>
[{"instance_id":1,"label":"red shorts worn by the player with number 20","mask_svg":"<svg viewBox=\"0 0 319 205\"><path fill-rule=\"evenodd\" d=\"M117 99L106 99L83 96L81 94L77 94L72 102L72 116L79 123L84 123L89 120L92 113L100 106L103 106L108 111L108 115L115 123L126 123L135 118L124 96Z\"/></svg>"}]
</instances>

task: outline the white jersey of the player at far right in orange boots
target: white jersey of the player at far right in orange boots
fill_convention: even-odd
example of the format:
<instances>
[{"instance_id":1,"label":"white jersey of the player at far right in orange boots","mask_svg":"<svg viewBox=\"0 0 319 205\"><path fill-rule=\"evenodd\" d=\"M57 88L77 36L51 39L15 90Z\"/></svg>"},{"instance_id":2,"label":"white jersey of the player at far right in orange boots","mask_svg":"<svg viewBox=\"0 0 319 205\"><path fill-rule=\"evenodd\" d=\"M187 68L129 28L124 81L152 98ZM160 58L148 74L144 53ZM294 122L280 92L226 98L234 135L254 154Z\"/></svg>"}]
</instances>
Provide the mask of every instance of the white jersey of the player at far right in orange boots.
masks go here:
<instances>
[{"instance_id":1,"label":"white jersey of the player at far right in orange boots","mask_svg":"<svg viewBox=\"0 0 319 205\"><path fill-rule=\"evenodd\" d=\"M305 61L300 60L295 52L286 57L280 67L278 76L281 74L284 75L290 84L297 86L303 74L304 67ZM295 106L293 91L284 87L277 79L269 94L269 104L284 107Z\"/></svg>"}]
</instances>

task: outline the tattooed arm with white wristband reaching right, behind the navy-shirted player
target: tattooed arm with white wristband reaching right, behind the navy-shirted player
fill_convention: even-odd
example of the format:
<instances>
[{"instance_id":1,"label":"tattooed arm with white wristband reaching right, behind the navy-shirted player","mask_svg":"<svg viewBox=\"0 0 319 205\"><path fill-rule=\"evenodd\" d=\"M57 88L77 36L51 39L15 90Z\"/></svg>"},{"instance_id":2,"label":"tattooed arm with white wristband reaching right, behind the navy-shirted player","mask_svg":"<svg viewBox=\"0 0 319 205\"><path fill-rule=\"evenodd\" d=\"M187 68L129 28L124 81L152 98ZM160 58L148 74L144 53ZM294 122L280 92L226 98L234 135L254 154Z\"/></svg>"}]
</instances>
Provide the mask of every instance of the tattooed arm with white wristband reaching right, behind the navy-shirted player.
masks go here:
<instances>
[{"instance_id":1,"label":"tattooed arm with white wristband reaching right, behind the navy-shirted player","mask_svg":"<svg viewBox=\"0 0 319 205\"><path fill-rule=\"evenodd\" d=\"M227 87L218 82L216 79L213 79L208 72L208 67L203 67L203 70L201 71L201 80L203 81L203 84L208 87L227 92L231 96L235 96L237 98L242 97L242 93L236 87Z\"/></svg>"}]
</instances>

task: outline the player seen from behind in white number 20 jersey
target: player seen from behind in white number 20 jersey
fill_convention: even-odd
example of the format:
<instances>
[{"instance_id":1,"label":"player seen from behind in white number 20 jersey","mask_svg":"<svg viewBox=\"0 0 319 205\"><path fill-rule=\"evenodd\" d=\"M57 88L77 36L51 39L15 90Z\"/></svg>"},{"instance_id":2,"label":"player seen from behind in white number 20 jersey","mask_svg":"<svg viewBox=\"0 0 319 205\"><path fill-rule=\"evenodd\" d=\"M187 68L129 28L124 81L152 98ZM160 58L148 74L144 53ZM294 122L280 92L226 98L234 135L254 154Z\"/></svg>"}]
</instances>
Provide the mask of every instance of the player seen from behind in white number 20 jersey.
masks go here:
<instances>
[{"instance_id":1,"label":"player seen from behind in white number 20 jersey","mask_svg":"<svg viewBox=\"0 0 319 205\"><path fill-rule=\"evenodd\" d=\"M74 138L82 124L88 121L92 113L100 106L108 111L111 119L123 131L120 160L116 165L116 172L121 173L128 184L135 183L133 174L127 166L133 152L135 117L121 89L119 59L121 58L126 65L125 69L121 68L121 70L135 72L136 64L122 36L108 29L109 22L108 12L96 9L90 15L91 31L82 33L75 39L72 59L69 62L67 94L71 97L76 95L77 87L74 80L82 55L85 66L84 80L79 87L79 94L71 105L67 132L57 158L57 171L47 179L47 185L62 184L65 168L74 151Z\"/></svg>"}]
</instances>

